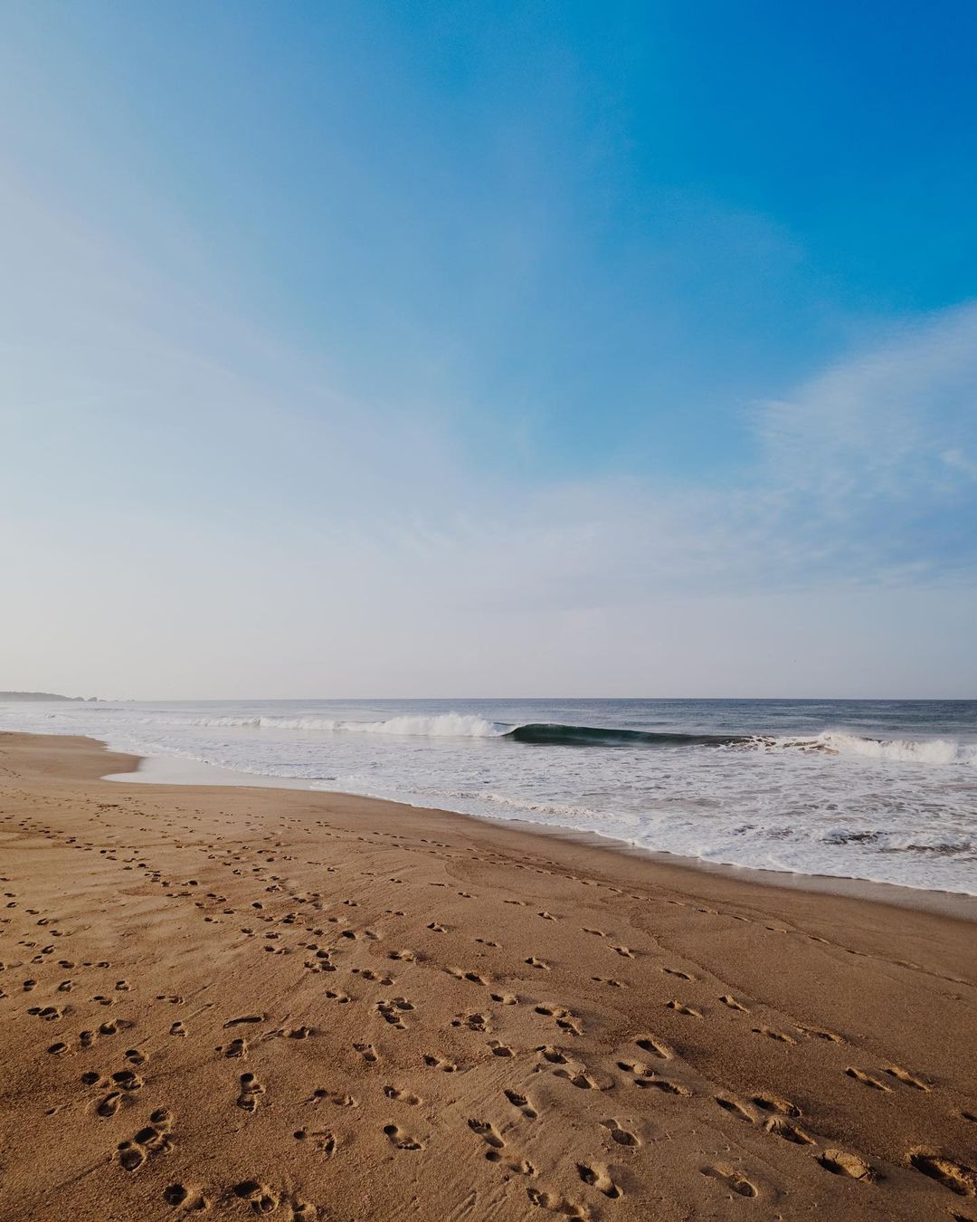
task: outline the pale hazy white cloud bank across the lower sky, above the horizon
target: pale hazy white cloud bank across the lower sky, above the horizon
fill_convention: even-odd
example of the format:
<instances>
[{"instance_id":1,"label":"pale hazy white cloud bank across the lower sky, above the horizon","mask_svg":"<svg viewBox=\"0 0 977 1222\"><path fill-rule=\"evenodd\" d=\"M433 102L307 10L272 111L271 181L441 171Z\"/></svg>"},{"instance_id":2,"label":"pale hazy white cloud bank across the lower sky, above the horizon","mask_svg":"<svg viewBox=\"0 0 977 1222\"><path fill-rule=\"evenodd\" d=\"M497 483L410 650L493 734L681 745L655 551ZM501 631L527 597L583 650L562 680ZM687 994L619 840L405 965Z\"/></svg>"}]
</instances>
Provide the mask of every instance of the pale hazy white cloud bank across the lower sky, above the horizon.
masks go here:
<instances>
[{"instance_id":1,"label":"pale hazy white cloud bank across the lower sky, above the horizon","mask_svg":"<svg viewBox=\"0 0 977 1222\"><path fill-rule=\"evenodd\" d=\"M28 286L4 319L5 687L971 682L977 306L745 412L760 455L736 483L532 486L487 477L443 406L358 402L89 237L23 200L0 232Z\"/></svg>"}]
</instances>

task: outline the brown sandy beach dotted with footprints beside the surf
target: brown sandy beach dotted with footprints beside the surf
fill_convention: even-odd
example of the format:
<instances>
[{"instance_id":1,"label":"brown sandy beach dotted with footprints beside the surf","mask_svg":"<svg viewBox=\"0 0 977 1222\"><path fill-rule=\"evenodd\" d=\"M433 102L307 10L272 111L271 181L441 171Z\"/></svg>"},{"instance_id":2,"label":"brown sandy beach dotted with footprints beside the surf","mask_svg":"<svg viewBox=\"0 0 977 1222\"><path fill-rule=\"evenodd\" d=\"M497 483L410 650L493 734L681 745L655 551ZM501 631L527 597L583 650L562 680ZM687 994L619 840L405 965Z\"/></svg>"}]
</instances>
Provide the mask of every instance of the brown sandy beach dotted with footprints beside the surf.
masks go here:
<instances>
[{"instance_id":1,"label":"brown sandy beach dotted with footprints beside the surf","mask_svg":"<svg viewBox=\"0 0 977 1222\"><path fill-rule=\"evenodd\" d=\"M977 1220L968 920L136 764L0 736L4 1220Z\"/></svg>"}]
</instances>

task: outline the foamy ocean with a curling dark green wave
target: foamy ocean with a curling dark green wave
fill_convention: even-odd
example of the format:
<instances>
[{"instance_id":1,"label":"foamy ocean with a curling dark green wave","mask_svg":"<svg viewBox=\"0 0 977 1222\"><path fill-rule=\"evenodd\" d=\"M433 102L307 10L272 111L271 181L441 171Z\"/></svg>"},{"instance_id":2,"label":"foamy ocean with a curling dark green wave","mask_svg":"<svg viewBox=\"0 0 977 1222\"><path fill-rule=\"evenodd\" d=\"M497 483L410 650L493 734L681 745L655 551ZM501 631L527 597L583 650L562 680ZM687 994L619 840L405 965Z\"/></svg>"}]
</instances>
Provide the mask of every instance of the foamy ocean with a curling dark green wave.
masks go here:
<instances>
[{"instance_id":1,"label":"foamy ocean with a curling dark green wave","mask_svg":"<svg viewBox=\"0 0 977 1222\"><path fill-rule=\"evenodd\" d=\"M0 704L0 730L977 895L977 700L51 701Z\"/></svg>"}]
</instances>

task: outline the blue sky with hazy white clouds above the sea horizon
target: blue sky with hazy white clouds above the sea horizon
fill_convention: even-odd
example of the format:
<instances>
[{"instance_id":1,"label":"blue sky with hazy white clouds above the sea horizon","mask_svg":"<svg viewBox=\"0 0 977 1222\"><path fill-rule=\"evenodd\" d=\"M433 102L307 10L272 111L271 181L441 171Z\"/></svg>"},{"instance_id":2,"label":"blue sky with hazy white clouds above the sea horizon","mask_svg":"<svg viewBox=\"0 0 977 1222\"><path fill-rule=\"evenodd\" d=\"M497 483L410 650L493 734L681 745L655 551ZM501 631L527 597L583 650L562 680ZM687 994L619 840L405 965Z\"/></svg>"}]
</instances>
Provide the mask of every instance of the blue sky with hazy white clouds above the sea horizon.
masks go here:
<instances>
[{"instance_id":1,"label":"blue sky with hazy white clouds above the sea horizon","mask_svg":"<svg viewBox=\"0 0 977 1222\"><path fill-rule=\"evenodd\" d=\"M0 7L0 688L977 697L977 10Z\"/></svg>"}]
</instances>

